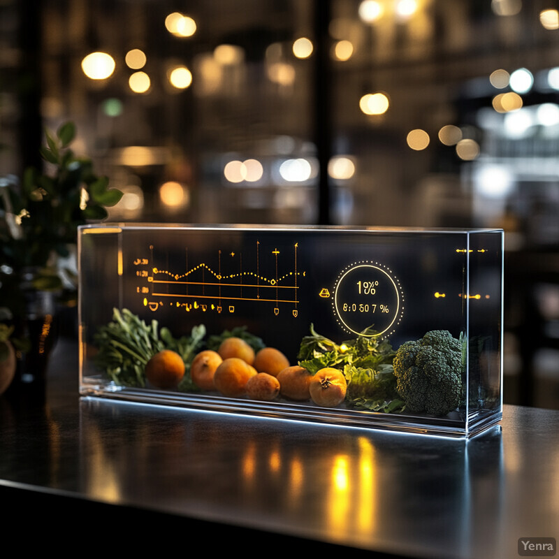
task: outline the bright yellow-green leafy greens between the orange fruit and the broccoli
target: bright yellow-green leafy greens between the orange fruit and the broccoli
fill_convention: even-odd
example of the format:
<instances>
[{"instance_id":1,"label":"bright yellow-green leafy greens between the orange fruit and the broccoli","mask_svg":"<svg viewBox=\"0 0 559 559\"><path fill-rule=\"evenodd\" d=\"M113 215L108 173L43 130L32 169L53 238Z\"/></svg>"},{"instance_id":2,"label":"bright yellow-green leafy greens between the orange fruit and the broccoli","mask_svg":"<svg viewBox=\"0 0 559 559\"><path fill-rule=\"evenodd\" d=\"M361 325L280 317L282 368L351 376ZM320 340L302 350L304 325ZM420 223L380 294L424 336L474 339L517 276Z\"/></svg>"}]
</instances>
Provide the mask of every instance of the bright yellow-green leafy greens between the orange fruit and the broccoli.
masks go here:
<instances>
[{"instance_id":1,"label":"bright yellow-green leafy greens between the orange fruit and the broccoli","mask_svg":"<svg viewBox=\"0 0 559 559\"><path fill-rule=\"evenodd\" d=\"M404 411L405 402L396 391L394 355L390 342L379 340L371 328L337 344L317 333L311 324L310 335L301 340L298 360L312 375L326 367L342 370L347 381L346 401L351 407L398 413Z\"/></svg>"}]
</instances>

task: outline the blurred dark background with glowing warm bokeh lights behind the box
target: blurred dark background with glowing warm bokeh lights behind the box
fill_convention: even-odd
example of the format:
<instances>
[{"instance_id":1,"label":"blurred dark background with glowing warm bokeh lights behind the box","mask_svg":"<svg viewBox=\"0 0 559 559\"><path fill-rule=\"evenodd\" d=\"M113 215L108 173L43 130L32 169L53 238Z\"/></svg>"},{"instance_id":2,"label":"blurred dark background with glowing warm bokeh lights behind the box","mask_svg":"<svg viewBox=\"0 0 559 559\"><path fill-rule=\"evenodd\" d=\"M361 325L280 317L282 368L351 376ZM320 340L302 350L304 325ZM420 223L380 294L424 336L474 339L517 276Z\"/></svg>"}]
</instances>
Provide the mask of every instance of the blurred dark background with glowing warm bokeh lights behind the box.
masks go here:
<instances>
[{"instance_id":1,"label":"blurred dark background with glowing warm bokeh lights behind the box","mask_svg":"<svg viewBox=\"0 0 559 559\"><path fill-rule=\"evenodd\" d=\"M0 0L0 176L43 130L133 222L505 230L505 402L559 408L557 0Z\"/></svg>"}]
</instances>

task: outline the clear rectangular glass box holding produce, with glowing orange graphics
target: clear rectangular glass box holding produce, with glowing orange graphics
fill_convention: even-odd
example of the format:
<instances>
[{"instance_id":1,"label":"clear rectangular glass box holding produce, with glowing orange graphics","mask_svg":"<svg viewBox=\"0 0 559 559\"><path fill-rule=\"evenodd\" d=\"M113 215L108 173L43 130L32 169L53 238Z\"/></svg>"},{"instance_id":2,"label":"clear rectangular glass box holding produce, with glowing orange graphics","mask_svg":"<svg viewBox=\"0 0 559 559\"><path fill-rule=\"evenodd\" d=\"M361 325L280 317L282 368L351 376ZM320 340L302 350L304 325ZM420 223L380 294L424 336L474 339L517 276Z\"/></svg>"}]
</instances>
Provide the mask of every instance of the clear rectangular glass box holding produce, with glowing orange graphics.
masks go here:
<instances>
[{"instance_id":1,"label":"clear rectangular glass box holding produce, with glowing orange graphics","mask_svg":"<svg viewBox=\"0 0 559 559\"><path fill-rule=\"evenodd\" d=\"M502 417L500 229L78 232L80 394L470 437Z\"/></svg>"}]
</instances>

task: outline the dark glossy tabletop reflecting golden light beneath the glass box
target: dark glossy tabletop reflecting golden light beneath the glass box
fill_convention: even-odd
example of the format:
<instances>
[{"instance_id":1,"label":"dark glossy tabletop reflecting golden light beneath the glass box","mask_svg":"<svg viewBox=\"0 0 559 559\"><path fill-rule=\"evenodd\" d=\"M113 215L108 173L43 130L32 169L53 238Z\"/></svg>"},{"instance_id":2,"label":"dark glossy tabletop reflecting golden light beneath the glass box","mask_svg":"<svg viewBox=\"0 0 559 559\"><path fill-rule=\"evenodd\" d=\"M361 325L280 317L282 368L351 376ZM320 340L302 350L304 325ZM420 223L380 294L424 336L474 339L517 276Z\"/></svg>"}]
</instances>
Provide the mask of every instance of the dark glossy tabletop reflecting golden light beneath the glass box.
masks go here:
<instances>
[{"instance_id":1,"label":"dark glossy tabletop reflecting golden light beneath the glass box","mask_svg":"<svg viewBox=\"0 0 559 559\"><path fill-rule=\"evenodd\" d=\"M0 397L0 502L30 535L514 558L559 539L559 412L465 441L80 398L61 342L44 398Z\"/></svg>"}]
</instances>

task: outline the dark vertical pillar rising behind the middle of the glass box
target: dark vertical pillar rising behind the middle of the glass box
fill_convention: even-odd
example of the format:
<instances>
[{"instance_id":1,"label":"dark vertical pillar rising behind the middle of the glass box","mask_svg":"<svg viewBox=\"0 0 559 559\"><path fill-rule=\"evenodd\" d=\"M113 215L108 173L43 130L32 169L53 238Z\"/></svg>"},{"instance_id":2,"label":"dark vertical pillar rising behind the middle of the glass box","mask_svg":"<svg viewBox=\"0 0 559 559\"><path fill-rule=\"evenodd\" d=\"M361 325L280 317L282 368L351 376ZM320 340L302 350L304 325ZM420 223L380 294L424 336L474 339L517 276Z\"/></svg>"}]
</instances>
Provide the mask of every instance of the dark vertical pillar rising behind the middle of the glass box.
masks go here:
<instances>
[{"instance_id":1,"label":"dark vertical pillar rising behind the middle of the glass box","mask_svg":"<svg viewBox=\"0 0 559 559\"><path fill-rule=\"evenodd\" d=\"M328 161L332 151L330 0L314 0L314 143L319 160L319 215L321 225L331 224L331 191Z\"/></svg>"}]
</instances>

